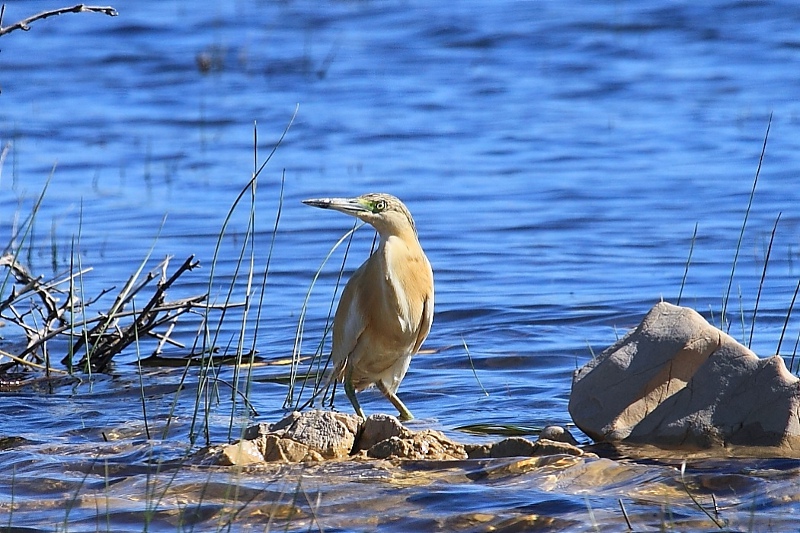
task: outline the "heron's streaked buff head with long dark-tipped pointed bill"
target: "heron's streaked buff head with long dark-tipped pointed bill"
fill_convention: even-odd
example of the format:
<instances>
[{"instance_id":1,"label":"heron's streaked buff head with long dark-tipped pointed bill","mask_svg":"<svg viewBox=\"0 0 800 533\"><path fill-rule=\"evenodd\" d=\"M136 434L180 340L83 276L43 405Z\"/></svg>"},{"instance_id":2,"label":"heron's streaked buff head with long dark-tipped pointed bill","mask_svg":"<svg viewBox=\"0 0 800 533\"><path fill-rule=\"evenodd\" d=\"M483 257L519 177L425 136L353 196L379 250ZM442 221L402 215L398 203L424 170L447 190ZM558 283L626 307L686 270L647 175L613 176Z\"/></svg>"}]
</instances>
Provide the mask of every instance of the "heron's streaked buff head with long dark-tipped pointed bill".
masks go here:
<instances>
[{"instance_id":1,"label":"heron's streaked buff head with long dark-tipped pointed bill","mask_svg":"<svg viewBox=\"0 0 800 533\"><path fill-rule=\"evenodd\" d=\"M403 202L391 194L368 193L356 198L318 198L303 203L322 209L333 209L354 216L372 225L382 237L417 234L414 219Z\"/></svg>"}]
</instances>

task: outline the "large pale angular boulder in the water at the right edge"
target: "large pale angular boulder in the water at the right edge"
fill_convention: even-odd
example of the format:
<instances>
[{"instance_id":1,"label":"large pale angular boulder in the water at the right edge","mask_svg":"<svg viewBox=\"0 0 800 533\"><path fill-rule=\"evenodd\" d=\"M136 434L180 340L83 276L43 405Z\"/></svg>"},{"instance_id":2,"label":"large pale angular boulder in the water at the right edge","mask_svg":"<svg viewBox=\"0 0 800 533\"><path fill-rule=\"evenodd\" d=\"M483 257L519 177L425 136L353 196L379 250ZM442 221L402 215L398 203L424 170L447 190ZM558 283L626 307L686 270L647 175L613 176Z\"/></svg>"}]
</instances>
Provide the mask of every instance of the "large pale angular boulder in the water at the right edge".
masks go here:
<instances>
[{"instance_id":1,"label":"large pale angular boulder in the water at the right edge","mask_svg":"<svg viewBox=\"0 0 800 533\"><path fill-rule=\"evenodd\" d=\"M800 382L695 311L659 303L575 371L569 412L596 441L800 451Z\"/></svg>"}]
</instances>

